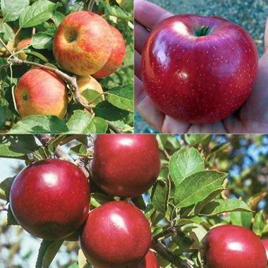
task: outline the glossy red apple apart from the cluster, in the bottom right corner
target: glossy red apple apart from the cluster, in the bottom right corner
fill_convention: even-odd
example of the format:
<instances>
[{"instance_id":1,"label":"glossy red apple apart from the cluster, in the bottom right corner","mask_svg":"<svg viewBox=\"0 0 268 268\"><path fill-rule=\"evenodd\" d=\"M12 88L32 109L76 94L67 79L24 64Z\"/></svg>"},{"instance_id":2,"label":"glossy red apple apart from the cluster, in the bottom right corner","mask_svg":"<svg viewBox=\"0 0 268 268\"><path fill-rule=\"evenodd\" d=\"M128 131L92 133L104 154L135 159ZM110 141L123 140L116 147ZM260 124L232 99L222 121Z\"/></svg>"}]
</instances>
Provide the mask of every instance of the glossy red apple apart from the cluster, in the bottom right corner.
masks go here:
<instances>
[{"instance_id":1,"label":"glossy red apple apart from the cluster, in the bottom right corner","mask_svg":"<svg viewBox=\"0 0 268 268\"><path fill-rule=\"evenodd\" d=\"M267 257L258 236L245 227L224 225L205 236L206 268L265 268Z\"/></svg>"}]
</instances>

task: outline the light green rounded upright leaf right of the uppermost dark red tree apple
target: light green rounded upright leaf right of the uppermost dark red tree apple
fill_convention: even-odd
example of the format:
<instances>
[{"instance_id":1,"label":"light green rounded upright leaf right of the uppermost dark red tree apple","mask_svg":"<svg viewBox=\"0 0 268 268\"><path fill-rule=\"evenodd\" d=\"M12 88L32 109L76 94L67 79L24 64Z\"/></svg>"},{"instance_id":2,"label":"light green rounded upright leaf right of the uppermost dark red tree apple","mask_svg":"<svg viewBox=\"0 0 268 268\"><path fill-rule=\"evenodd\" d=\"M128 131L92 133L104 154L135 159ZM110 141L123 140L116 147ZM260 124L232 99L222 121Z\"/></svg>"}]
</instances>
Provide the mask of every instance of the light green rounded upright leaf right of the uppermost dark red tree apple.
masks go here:
<instances>
[{"instance_id":1,"label":"light green rounded upright leaf right of the uppermost dark red tree apple","mask_svg":"<svg viewBox=\"0 0 268 268\"><path fill-rule=\"evenodd\" d=\"M177 187L185 178L204 170L204 160L195 148L181 148L169 161L169 173Z\"/></svg>"}]
</instances>

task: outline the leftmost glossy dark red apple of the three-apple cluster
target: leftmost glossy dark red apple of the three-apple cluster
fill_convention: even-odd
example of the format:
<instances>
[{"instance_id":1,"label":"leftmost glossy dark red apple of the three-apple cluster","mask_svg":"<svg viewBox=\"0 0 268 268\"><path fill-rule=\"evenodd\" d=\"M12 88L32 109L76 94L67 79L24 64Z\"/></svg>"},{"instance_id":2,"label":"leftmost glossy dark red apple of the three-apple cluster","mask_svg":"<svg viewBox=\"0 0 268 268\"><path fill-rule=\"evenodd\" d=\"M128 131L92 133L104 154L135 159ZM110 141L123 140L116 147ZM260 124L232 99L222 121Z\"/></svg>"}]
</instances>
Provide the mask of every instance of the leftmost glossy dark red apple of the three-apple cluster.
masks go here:
<instances>
[{"instance_id":1,"label":"leftmost glossy dark red apple of the three-apple cluster","mask_svg":"<svg viewBox=\"0 0 268 268\"><path fill-rule=\"evenodd\" d=\"M58 240L78 230L87 219L90 185L74 164L44 159L18 173L10 203L23 229L45 240Z\"/></svg>"}]
</instances>

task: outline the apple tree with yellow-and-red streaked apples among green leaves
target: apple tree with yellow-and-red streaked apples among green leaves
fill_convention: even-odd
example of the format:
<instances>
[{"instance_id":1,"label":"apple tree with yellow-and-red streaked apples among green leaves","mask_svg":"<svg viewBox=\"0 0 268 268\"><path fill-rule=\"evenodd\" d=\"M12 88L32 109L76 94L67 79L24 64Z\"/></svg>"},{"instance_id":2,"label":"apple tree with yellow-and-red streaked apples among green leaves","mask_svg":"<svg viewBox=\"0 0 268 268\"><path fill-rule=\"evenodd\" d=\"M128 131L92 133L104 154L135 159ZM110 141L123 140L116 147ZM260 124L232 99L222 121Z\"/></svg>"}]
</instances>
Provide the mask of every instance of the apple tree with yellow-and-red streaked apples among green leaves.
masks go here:
<instances>
[{"instance_id":1,"label":"apple tree with yellow-and-red streaked apples among green leaves","mask_svg":"<svg viewBox=\"0 0 268 268\"><path fill-rule=\"evenodd\" d=\"M1 132L132 133L133 1L1 0L0 87Z\"/></svg>"}]
</instances>

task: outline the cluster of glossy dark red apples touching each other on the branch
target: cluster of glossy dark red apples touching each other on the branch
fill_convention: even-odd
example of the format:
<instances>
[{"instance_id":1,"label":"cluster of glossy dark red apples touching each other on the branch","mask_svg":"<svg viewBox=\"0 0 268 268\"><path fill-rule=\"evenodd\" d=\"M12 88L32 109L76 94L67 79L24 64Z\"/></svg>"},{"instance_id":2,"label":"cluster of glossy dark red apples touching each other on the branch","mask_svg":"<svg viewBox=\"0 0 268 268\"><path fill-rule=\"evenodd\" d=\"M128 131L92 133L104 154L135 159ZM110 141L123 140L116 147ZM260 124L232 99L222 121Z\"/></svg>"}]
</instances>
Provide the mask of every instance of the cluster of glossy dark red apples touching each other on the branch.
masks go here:
<instances>
[{"instance_id":1,"label":"cluster of glossy dark red apples touching each other on the branch","mask_svg":"<svg viewBox=\"0 0 268 268\"><path fill-rule=\"evenodd\" d=\"M97 135L90 179L109 195L147 192L160 171L154 135ZM78 240L97 268L159 268L145 215L130 202L106 202L89 213L90 182L78 166L43 159L25 167L11 186L18 224L45 240Z\"/></svg>"}]
</instances>

